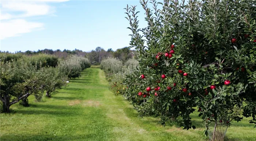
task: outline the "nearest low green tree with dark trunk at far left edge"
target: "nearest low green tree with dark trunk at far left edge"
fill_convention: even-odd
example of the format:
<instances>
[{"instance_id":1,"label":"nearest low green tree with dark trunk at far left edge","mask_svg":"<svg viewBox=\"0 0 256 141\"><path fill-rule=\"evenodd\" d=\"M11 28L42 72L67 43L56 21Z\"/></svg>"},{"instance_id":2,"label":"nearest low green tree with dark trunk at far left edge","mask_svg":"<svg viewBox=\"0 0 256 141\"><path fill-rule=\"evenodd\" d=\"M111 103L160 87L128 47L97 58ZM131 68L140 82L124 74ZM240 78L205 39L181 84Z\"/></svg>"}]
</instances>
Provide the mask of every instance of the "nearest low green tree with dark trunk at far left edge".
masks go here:
<instances>
[{"instance_id":1,"label":"nearest low green tree with dark trunk at far left edge","mask_svg":"<svg viewBox=\"0 0 256 141\"><path fill-rule=\"evenodd\" d=\"M0 100L4 113L10 112L12 104L20 100L26 103L28 96L42 93L51 81L48 68L38 70L26 62L1 62L0 66Z\"/></svg>"}]
</instances>

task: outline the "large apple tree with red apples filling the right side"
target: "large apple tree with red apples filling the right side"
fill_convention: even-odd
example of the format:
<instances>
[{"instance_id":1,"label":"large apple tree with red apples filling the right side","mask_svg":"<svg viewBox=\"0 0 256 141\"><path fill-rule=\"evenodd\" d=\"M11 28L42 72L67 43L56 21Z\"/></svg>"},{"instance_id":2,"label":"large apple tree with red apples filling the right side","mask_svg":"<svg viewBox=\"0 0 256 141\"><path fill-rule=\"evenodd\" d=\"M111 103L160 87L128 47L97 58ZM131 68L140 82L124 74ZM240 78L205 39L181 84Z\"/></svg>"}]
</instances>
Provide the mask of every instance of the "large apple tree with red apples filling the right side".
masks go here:
<instances>
[{"instance_id":1,"label":"large apple tree with red apples filling the right side","mask_svg":"<svg viewBox=\"0 0 256 141\"><path fill-rule=\"evenodd\" d=\"M158 9L152 0L153 10L147 1L140 3L146 11L146 28L138 28L136 6L125 8L133 33L130 45L139 61L137 72L125 80L125 96L140 115L153 113L162 124L181 117L184 129L195 129L190 114L198 107L206 136L211 122L229 127L232 120L253 117L250 123L256 123L255 1L206 0L185 5L164 0ZM161 78L163 74L166 78ZM225 80L231 83L224 84ZM152 90L147 92L147 87ZM139 92L146 96L138 96Z\"/></svg>"}]
</instances>

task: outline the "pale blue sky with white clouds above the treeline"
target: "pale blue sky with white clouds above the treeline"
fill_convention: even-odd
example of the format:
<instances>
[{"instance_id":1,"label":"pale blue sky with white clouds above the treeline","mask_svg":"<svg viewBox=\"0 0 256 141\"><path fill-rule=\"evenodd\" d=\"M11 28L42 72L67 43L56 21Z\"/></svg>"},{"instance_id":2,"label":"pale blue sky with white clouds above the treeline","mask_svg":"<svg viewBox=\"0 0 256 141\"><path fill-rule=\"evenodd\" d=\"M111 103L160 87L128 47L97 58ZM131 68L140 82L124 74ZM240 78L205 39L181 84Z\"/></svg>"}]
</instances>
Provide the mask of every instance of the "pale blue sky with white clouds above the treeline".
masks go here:
<instances>
[{"instance_id":1,"label":"pale blue sky with white clouds above the treeline","mask_svg":"<svg viewBox=\"0 0 256 141\"><path fill-rule=\"evenodd\" d=\"M127 4L138 5L140 27L146 27L139 0L1 0L1 51L129 46Z\"/></svg>"}]
</instances>

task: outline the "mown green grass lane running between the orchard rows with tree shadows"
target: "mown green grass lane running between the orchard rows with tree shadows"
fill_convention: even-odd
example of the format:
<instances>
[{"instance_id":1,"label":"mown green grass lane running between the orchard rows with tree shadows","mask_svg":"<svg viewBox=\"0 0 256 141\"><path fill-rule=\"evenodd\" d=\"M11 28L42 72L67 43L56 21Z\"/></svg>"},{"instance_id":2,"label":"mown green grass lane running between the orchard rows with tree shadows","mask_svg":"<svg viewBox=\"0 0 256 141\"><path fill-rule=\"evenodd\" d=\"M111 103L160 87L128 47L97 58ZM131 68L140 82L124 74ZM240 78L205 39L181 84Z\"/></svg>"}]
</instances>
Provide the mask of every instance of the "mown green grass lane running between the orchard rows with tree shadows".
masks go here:
<instances>
[{"instance_id":1,"label":"mown green grass lane running between the orchard rows with tree shadows","mask_svg":"<svg viewBox=\"0 0 256 141\"><path fill-rule=\"evenodd\" d=\"M152 117L138 113L122 96L108 89L104 73L97 67L86 69L52 98L30 107L12 106L11 114L0 114L0 141L205 141L197 113L192 118L197 129L182 130L161 126ZM231 141L255 141L256 129L248 119L232 123L227 131Z\"/></svg>"}]
</instances>

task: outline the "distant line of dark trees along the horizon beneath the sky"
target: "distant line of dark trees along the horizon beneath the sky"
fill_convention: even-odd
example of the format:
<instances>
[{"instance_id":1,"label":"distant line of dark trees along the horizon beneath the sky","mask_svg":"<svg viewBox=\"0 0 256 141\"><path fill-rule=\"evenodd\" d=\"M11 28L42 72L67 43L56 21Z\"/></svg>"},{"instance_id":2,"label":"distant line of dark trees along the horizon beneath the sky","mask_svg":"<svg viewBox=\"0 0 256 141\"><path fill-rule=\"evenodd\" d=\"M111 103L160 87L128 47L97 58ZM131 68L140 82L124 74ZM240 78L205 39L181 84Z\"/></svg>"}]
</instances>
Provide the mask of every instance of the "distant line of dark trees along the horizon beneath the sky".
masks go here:
<instances>
[{"instance_id":1,"label":"distant line of dark trees along the horizon beneath the sky","mask_svg":"<svg viewBox=\"0 0 256 141\"><path fill-rule=\"evenodd\" d=\"M1 51L0 51L1 52ZM7 52L8 53L8 52ZM60 59L65 59L69 55L78 55L78 56L83 56L89 59L90 63L92 65L99 65L101 60L106 57L114 57L122 60L123 62L126 62L130 58L133 58L134 56L134 50L130 50L129 47L124 47L121 49L117 49L116 51L113 51L112 49L104 50L102 47L97 47L95 50L92 50L91 52L83 52L82 50L66 50L64 49L63 51L57 49L57 50L52 50L52 49L44 49L44 50L38 50L38 51L26 51L26 52L15 52L16 55L10 57L12 59L18 59L19 56L18 54L21 55L36 55L36 54L52 54ZM18 58L16 58L18 57ZM8 60L8 57L6 58Z\"/></svg>"}]
</instances>

